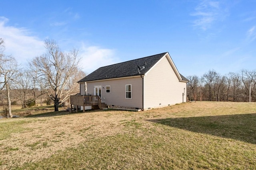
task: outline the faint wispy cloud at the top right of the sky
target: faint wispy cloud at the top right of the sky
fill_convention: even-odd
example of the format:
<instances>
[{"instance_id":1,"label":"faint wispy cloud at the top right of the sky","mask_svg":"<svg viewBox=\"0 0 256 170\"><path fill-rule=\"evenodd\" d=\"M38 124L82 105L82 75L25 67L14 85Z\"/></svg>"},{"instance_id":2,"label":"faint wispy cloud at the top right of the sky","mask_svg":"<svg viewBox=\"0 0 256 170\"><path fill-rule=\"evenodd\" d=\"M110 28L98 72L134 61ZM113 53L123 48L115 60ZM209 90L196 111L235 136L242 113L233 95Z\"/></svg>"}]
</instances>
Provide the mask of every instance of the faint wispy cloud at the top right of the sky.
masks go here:
<instances>
[{"instance_id":1,"label":"faint wispy cloud at the top right of the sky","mask_svg":"<svg viewBox=\"0 0 256 170\"><path fill-rule=\"evenodd\" d=\"M223 20L226 16L226 10L220 8L220 2L211 0L202 0L191 14L197 19L193 21L194 27L202 30L209 29L215 21Z\"/></svg>"}]
</instances>

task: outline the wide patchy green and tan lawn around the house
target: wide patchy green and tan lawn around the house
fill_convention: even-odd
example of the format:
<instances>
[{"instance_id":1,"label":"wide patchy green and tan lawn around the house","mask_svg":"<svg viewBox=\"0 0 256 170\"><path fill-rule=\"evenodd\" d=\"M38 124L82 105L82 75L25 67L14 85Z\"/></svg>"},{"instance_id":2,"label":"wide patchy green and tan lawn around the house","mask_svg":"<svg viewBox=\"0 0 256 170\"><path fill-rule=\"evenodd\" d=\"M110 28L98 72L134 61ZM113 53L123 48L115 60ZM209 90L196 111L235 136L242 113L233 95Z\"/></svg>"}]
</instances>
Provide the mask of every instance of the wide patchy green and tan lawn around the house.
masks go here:
<instances>
[{"instance_id":1,"label":"wide patchy green and tan lawn around the house","mask_svg":"<svg viewBox=\"0 0 256 170\"><path fill-rule=\"evenodd\" d=\"M0 119L0 169L256 169L256 103Z\"/></svg>"}]
</instances>

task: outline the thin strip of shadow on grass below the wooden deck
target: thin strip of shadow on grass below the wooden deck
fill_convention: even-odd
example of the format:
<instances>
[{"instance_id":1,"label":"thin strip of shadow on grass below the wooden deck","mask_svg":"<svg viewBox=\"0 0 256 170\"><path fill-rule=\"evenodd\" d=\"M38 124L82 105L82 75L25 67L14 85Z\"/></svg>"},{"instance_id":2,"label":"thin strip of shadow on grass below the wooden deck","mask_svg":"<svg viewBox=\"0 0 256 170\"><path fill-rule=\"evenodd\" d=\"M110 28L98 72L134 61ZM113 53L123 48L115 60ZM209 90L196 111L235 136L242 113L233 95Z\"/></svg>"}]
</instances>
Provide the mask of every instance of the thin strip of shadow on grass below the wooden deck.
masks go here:
<instances>
[{"instance_id":1,"label":"thin strip of shadow on grass below the wooden deck","mask_svg":"<svg viewBox=\"0 0 256 170\"><path fill-rule=\"evenodd\" d=\"M75 114L80 114L80 113L94 113L94 112L105 112L105 111L115 111L112 109L108 110L100 110L100 109L94 109L94 110L86 110L85 112L83 111L73 111L70 113L69 111L52 111L52 112L45 112L45 113L39 113L39 114L34 114L34 115L27 115L24 117L53 117L53 116L60 116L60 115L75 115Z\"/></svg>"}]
</instances>

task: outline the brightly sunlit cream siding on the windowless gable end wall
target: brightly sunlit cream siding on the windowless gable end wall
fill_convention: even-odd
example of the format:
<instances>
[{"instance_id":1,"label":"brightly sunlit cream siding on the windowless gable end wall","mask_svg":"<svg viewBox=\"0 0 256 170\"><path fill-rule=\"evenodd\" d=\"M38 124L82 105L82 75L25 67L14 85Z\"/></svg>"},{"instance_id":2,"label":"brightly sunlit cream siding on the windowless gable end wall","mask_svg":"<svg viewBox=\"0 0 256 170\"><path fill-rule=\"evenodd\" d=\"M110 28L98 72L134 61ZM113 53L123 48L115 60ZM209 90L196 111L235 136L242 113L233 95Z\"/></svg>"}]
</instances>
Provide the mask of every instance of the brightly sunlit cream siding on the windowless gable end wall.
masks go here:
<instances>
[{"instance_id":1,"label":"brightly sunlit cream siding on the windowless gable end wall","mask_svg":"<svg viewBox=\"0 0 256 170\"><path fill-rule=\"evenodd\" d=\"M145 109L186 102L186 82L179 82L166 57L144 77L144 100Z\"/></svg>"}]
</instances>

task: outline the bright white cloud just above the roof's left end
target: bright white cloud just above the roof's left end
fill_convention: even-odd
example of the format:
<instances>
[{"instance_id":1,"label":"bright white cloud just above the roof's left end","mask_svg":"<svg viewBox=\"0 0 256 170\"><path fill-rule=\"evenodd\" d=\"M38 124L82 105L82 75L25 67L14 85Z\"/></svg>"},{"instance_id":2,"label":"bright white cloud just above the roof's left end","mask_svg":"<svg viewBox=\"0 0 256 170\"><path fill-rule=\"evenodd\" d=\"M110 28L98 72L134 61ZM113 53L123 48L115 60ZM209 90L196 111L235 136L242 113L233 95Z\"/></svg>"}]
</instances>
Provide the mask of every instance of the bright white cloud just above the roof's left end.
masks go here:
<instances>
[{"instance_id":1,"label":"bright white cloud just above the roof's left end","mask_svg":"<svg viewBox=\"0 0 256 170\"><path fill-rule=\"evenodd\" d=\"M96 46L86 47L86 45L82 44L80 55L82 57L81 66L87 74L102 66L120 62L119 59L114 57L115 51L113 49L104 49Z\"/></svg>"}]
</instances>

